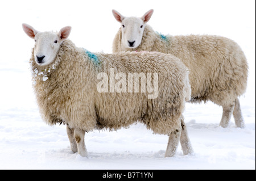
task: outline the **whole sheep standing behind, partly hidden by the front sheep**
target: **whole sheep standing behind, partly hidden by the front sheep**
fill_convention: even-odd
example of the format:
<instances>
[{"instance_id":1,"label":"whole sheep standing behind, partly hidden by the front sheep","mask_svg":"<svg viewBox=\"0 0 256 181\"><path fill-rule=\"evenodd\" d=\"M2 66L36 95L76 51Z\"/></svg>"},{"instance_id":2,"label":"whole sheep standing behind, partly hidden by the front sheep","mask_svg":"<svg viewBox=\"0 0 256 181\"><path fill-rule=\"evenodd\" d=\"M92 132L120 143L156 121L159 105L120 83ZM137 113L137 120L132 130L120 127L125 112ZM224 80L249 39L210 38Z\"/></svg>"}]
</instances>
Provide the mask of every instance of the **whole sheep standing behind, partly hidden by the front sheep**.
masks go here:
<instances>
[{"instance_id":1,"label":"whole sheep standing behind, partly hidden by the front sheep","mask_svg":"<svg viewBox=\"0 0 256 181\"><path fill-rule=\"evenodd\" d=\"M246 91L248 65L237 43L221 36L171 36L155 32L146 24L154 10L147 11L142 18L112 12L121 23L113 40L113 53L147 50L180 58L189 69L189 102L210 100L222 106L221 127L228 127L232 113L237 127L245 127L238 96Z\"/></svg>"}]
</instances>

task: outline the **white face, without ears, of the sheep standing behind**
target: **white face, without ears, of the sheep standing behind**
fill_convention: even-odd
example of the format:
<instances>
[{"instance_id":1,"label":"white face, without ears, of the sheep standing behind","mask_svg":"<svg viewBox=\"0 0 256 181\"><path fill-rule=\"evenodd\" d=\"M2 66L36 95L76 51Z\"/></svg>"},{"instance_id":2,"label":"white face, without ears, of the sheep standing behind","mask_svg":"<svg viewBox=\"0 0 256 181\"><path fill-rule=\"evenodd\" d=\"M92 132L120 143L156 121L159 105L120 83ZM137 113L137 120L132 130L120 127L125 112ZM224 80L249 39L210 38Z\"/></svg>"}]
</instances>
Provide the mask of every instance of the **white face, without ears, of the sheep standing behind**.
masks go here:
<instances>
[{"instance_id":1,"label":"white face, without ears, of the sheep standing behind","mask_svg":"<svg viewBox=\"0 0 256 181\"><path fill-rule=\"evenodd\" d=\"M122 46L137 48L141 44L144 31L144 22L141 18L129 17L121 23Z\"/></svg>"}]
</instances>

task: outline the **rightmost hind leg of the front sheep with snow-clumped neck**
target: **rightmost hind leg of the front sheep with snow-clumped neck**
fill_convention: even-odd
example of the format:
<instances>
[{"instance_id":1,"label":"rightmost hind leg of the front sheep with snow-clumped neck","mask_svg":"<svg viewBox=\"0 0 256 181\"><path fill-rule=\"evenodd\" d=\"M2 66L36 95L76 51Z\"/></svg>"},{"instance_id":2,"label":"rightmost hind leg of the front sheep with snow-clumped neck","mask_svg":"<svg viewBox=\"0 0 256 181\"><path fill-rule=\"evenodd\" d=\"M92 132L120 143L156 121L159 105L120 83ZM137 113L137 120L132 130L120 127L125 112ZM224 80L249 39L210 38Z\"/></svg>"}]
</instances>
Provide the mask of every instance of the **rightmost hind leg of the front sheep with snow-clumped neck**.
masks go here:
<instances>
[{"instance_id":1,"label":"rightmost hind leg of the front sheep with snow-clumped neck","mask_svg":"<svg viewBox=\"0 0 256 181\"><path fill-rule=\"evenodd\" d=\"M184 117L181 116L181 136L180 145L184 155L192 154L193 148L188 137L187 127L184 122Z\"/></svg>"}]
</instances>

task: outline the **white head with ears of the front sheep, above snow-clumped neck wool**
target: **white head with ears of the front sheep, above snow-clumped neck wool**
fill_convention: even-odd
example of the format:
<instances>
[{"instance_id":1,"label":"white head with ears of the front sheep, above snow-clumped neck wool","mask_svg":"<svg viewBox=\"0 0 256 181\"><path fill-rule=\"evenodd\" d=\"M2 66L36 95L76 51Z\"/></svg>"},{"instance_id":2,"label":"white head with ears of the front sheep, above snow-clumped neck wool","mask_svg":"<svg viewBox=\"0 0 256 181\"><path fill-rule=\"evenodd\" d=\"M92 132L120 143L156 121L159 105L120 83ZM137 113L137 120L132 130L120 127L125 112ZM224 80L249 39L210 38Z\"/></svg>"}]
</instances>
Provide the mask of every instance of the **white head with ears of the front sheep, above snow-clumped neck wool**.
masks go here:
<instances>
[{"instance_id":1,"label":"white head with ears of the front sheep, above snow-clumped neck wool","mask_svg":"<svg viewBox=\"0 0 256 181\"><path fill-rule=\"evenodd\" d=\"M24 32L35 40L34 56L36 64L48 65L53 62L59 52L60 45L68 38L71 27L62 28L59 33L39 32L28 24L22 24Z\"/></svg>"}]
</instances>

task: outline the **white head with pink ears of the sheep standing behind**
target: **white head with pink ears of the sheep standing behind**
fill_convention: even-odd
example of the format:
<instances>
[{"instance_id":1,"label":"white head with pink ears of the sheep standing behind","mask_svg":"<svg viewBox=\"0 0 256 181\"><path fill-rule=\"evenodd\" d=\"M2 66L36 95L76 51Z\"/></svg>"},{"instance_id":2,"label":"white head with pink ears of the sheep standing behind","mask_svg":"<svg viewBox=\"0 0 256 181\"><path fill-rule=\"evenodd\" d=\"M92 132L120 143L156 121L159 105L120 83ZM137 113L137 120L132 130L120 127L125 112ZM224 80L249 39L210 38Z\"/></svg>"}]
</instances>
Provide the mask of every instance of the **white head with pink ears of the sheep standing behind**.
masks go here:
<instances>
[{"instance_id":1,"label":"white head with pink ears of the sheep standing behind","mask_svg":"<svg viewBox=\"0 0 256 181\"><path fill-rule=\"evenodd\" d=\"M144 25L150 20L154 10L147 11L141 18L125 17L112 10L115 19L121 23L122 46L125 48L137 48L141 44Z\"/></svg>"}]
</instances>

